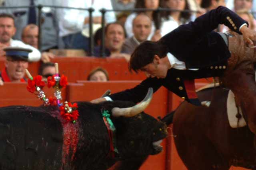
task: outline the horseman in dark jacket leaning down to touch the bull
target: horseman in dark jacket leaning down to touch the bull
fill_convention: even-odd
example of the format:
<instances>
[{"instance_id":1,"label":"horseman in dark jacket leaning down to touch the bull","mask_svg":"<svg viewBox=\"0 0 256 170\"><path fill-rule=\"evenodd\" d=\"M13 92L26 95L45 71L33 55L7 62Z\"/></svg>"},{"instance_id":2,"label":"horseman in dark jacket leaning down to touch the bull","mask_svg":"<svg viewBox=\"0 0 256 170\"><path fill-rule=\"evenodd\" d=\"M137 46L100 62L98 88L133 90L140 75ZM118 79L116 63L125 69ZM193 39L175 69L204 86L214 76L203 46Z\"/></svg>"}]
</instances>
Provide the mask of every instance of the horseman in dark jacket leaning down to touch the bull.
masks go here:
<instances>
[{"instance_id":1,"label":"horseman in dark jacket leaning down to touch the bull","mask_svg":"<svg viewBox=\"0 0 256 170\"><path fill-rule=\"evenodd\" d=\"M232 35L213 31L219 24L228 26ZM130 100L137 103L149 87L155 92L164 86L191 104L200 106L194 79L220 77L225 85L225 76L236 64L254 56L255 50L250 47L254 46L255 40L256 31L248 28L248 22L220 6L193 22L180 25L157 42L140 44L131 55L129 69L142 71L148 78L132 89L91 102ZM241 55L238 54L244 50L245 54L239 58Z\"/></svg>"}]
</instances>

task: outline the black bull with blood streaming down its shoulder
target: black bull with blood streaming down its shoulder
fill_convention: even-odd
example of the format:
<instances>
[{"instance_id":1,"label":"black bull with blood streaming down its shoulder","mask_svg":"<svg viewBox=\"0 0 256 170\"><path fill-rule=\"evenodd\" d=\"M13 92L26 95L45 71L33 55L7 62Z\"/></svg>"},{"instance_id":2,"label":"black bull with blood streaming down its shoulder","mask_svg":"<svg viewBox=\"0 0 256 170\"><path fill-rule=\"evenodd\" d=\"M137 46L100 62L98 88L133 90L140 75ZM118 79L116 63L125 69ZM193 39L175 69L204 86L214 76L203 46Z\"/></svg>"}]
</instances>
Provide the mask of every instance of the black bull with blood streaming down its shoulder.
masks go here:
<instances>
[{"instance_id":1,"label":"black bull with blood streaming down its shoulder","mask_svg":"<svg viewBox=\"0 0 256 170\"><path fill-rule=\"evenodd\" d=\"M130 107L130 102L78 102L76 124L65 124L57 107L0 108L0 170L137 170L148 155L161 152L156 141L166 125L146 113L111 117L119 154L108 156L110 139L102 109Z\"/></svg>"}]
</instances>

